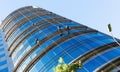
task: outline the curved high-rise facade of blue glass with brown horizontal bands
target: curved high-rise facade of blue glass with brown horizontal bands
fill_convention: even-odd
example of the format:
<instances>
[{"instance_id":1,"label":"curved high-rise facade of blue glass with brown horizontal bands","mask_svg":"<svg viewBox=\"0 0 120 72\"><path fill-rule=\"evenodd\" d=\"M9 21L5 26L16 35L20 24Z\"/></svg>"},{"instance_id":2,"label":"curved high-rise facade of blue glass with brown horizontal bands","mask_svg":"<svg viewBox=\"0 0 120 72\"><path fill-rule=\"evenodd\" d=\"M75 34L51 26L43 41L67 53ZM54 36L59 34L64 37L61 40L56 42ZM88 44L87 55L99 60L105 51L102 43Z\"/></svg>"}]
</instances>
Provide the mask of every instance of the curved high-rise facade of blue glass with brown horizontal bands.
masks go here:
<instances>
[{"instance_id":1,"label":"curved high-rise facade of blue glass with brown horizontal bands","mask_svg":"<svg viewBox=\"0 0 120 72\"><path fill-rule=\"evenodd\" d=\"M108 35L42 8L27 6L2 23L13 72L53 72L59 57L81 60L78 72L120 70L120 47Z\"/></svg>"}]
</instances>

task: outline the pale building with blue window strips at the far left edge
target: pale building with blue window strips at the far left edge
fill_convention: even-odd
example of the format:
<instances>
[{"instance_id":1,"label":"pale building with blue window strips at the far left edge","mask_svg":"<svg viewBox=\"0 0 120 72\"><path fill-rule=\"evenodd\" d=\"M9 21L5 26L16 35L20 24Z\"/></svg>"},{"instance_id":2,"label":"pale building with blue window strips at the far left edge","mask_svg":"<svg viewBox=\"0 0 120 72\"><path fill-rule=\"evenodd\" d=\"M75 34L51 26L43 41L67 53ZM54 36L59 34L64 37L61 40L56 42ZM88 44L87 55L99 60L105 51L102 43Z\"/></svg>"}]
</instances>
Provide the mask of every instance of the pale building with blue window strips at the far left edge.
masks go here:
<instances>
[{"instance_id":1,"label":"pale building with blue window strips at the far left edge","mask_svg":"<svg viewBox=\"0 0 120 72\"><path fill-rule=\"evenodd\" d=\"M0 30L0 72L12 72L13 63L9 57L4 34Z\"/></svg>"}]
</instances>

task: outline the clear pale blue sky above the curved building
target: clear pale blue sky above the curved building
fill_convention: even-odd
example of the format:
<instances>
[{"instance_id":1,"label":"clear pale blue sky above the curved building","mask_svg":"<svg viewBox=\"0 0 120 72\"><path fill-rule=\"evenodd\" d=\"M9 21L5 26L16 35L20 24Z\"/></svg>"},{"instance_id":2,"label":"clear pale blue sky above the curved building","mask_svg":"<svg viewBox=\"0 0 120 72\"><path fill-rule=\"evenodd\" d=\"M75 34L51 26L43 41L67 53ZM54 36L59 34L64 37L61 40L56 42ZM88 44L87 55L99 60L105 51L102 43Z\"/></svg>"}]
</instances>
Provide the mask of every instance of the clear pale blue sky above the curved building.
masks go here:
<instances>
[{"instance_id":1,"label":"clear pale blue sky above the curved building","mask_svg":"<svg viewBox=\"0 0 120 72\"><path fill-rule=\"evenodd\" d=\"M58 15L109 34L110 23L120 38L120 0L1 0L0 20L24 6L38 6Z\"/></svg>"}]
</instances>

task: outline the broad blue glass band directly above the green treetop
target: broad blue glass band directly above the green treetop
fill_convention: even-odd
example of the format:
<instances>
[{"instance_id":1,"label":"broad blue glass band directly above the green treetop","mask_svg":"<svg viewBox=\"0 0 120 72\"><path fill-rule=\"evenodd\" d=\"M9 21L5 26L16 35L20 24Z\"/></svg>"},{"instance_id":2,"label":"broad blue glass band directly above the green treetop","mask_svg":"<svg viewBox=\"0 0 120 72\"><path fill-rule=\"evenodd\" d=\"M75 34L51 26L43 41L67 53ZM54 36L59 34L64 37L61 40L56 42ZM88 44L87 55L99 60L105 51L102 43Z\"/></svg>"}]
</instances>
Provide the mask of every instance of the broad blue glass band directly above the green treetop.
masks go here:
<instances>
[{"instance_id":1,"label":"broad blue glass band directly above the green treetop","mask_svg":"<svg viewBox=\"0 0 120 72\"><path fill-rule=\"evenodd\" d=\"M99 39L98 39L99 38ZM78 40L78 41L80 41L80 38L75 38L76 40ZM89 42L89 40L93 40L93 39L95 39L95 42L92 42L91 41L91 43ZM103 39L103 40L102 40ZM101 40L101 41L100 41ZM46 65L44 65L44 68L41 66L41 67L39 67L39 70L40 71L44 71L44 70L49 70L49 69L51 69L53 66L55 66L56 65L56 63L54 63L55 61L57 61L57 59L59 58L59 57L63 57L64 58L64 60L65 60L65 62L66 63L69 63L70 61L72 61L72 59L75 59L76 57L78 57L79 55L81 55L81 54L83 54L83 53L85 53L86 51L89 51L90 49L92 49L92 48L96 48L96 47L98 47L98 46L100 46L100 45L103 45L103 44L107 44L107 43L104 43L104 41L105 40L107 40L108 42L107 43L110 43L110 42L113 42L113 40L109 40L109 39L105 39L105 37L104 36L101 36L101 37L91 37L91 38L88 38L88 39L85 39L85 40L82 40L82 41L80 41L80 43L79 42L77 42L77 41L75 41L75 40L73 40L73 39L71 39L71 42L73 42L73 44L71 44L70 43L70 41L68 41L68 42L66 42L66 43L64 43L63 45L61 45L60 44L60 47L55 47L54 49L59 49L59 50L57 50L57 51L50 51L50 52L48 52L45 56L47 56L48 58L46 58L45 56L44 57L42 57L42 59L40 60L43 64L46 64ZM84 43L85 44L84 44ZM101 44L99 44L99 42L101 42ZM75 43L75 44L74 44ZM69 44L69 45L68 45ZM62 49L63 48L63 49ZM59 52L58 52L59 51ZM54 53L54 54L52 54L52 55L50 55L49 56L49 53ZM57 56L55 56L55 55L57 55ZM55 58L55 60L54 60L54 58ZM58 57L58 58L57 58ZM70 59L70 60L68 60L68 58ZM46 62L45 61L45 59L46 60L48 60L48 62ZM52 60L52 61L49 61L49 60ZM35 66L37 66L37 64L35 65ZM33 67L33 68L35 68L35 67ZM43 69L43 70L42 70ZM38 70L38 71L39 71Z\"/></svg>"}]
</instances>

